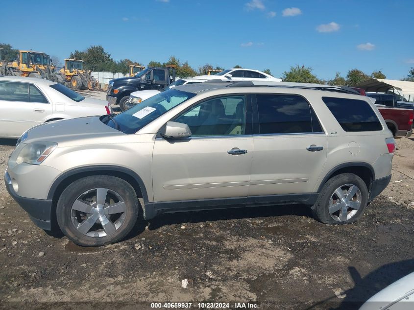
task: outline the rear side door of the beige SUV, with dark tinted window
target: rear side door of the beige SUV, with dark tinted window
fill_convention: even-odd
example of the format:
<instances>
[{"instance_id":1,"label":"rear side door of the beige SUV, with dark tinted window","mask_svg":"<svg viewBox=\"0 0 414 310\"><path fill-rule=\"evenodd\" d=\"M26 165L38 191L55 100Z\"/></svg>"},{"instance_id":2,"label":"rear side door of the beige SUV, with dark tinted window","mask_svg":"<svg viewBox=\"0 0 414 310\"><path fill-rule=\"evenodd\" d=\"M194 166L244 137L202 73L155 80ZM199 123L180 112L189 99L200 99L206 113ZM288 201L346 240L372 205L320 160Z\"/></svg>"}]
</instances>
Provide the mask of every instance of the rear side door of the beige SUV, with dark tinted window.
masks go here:
<instances>
[{"instance_id":1,"label":"rear side door of the beige SUV, with dark tinted window","mask_svg":"<svg viewBox=\"0 0 414 310\"><path fill-rule=\"evenodd\" d=\"M312 106L299 95L255 98L249 197L313 192L326 163L327 135Z\"/></svg>"}]
</instances>

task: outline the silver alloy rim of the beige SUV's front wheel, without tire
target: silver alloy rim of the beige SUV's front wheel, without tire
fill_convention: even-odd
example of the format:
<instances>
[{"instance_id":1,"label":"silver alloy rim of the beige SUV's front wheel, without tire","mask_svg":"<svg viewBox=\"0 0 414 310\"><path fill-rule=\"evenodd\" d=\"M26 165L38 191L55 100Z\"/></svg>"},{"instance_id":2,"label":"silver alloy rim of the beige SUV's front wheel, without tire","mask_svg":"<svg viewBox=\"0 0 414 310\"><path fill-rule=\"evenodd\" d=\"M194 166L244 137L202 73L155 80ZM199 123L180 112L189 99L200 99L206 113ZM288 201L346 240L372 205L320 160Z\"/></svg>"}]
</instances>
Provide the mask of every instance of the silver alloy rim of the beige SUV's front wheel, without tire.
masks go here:
<instances>
[{"instance_id":1,"label":"silver alloy rim of the beige SUV's front wheel, without tire","mask_svg":"<svg viewBox=\"0 0 414 310\"><path fill-rule=\"evenodd\" d=\"M126 205L122 196L109 189L85 191L73 202L71 220L75 228L89 237L105 237L123 224Z\"/></svg>"}]
</instances>

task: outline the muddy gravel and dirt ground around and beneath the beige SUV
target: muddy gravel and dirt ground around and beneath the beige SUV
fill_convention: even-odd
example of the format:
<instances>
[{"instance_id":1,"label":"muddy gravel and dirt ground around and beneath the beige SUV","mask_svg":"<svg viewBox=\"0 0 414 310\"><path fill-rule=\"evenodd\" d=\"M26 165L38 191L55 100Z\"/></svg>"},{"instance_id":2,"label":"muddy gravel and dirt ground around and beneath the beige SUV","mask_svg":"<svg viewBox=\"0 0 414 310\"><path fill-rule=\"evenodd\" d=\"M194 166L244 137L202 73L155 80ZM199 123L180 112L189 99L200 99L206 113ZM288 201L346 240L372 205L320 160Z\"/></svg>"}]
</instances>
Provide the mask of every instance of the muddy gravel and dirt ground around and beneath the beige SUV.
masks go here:
<instances>
[{"instance_id":1,"label":"muddy gravel and dirt ground around and beneath the beige SUV","mask_svg":"<svg viewBox=\"0 0 414 310\"><path fill-rule=\"evenodd\" d=\"M0 141L1 179L14 143ZM37 228L1 182L0 309L358 309L414 271L414 139L397 144L390 186L346 226L323 225L302 206L233 209L163 215L115 245L81 248ZM76 303L43 303L66 301Z\"/></svg>"}]
</instances>

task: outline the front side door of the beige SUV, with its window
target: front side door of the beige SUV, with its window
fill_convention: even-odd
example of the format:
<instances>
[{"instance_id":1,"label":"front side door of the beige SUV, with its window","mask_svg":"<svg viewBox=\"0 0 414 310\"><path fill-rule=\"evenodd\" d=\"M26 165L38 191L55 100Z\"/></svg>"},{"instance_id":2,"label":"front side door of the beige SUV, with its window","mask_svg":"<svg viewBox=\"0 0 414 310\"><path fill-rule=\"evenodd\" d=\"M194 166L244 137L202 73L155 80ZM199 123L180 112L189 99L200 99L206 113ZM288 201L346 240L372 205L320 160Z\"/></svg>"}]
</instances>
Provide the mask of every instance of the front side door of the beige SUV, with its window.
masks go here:
<instances>
[{"instance_id":1,"label":"front side door of the beige SUV, with its window","mask_svg":"<svg viewBox=\"0 0 414 310\"><path fill-rule=\"evenodd\" d=\"M223 199L243 203L253 155L250 95L208 98L171 120L187 124L192 135L175 140L156 138L154 201L192 200L193 207Z\"/></svg>"}]
</instances>

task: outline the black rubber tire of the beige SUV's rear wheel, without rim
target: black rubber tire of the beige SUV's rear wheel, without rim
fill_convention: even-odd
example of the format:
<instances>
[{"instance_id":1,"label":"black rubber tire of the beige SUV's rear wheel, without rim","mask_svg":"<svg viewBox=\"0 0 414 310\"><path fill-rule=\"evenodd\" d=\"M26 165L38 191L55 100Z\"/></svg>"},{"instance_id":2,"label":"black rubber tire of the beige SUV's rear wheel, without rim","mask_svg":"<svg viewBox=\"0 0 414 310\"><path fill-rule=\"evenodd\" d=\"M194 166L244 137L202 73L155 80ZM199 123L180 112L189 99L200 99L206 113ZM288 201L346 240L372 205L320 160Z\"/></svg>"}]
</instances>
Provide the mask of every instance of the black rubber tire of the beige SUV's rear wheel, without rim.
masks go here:
<instances>
[{"instance_id":1,"label":"black rubber tire of the beige SUV's rear wheel, without rim","mask_svg":"<svg viewBox=\"0 0 414 310\"><path fill-rule=\"evenodd\" d=\"M357 210L353 208L348 209L348 217L346 220L340 219L340 215L338 213L342 212L340 210L337 211L337 213L330 214L329 212L329 204L331 202L331 197L334 197L334 193L339 188L347 188L347 184L355 185L359 189L360 193L360 201L357 198L357 194L355 196L353 195L354 199L356 201L352 200L352 203L354 202L360 202L360 206ZM350 190L350 188L349 188ZM335 197L337 198L336 194ZM342 201L339 199L332 200L333 202L339 202ZM322 223L325 224L350 224L355 221L357 221L361 215L364 213L364 209L368 203L368 189L366 188L365 182L357 175L353 173L342 173L338 174L331 179L329 179L325 185L323 186L322 190L319 193L319 197L317 198L317 202L312 207L312 212L316 219ZM337 217L337 219L335 219Z\"/></svg>"}]
</instances>

